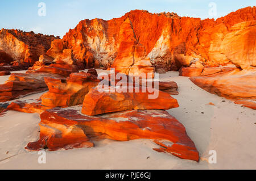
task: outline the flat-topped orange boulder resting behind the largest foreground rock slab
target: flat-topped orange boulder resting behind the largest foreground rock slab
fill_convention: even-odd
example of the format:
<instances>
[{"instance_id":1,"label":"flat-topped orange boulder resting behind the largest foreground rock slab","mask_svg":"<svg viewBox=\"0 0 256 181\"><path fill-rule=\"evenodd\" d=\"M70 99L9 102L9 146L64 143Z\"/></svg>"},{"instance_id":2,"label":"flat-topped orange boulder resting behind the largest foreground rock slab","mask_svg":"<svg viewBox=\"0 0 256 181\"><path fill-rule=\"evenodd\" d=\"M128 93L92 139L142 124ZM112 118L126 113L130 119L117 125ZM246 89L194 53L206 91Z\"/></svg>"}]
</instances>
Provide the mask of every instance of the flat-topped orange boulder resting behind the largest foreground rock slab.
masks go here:
<instances>
[{"instance_id":1,"label":"flat-topped orange boulder resting behind the largest foreground rock slab","mask_svg":"<svg viewBox=\"0 0 256 181\"><path fill-rule=\"evenodd\" d=\"M113 88L113 87L112 87ZM111 92L111 87L106 87L99 91L97 87L91 89L86 94L82 106L82 113L88 116L100 115L102 113L118 112L125 110L170 110L179 107L177 100L172 98L167 92L159 91L159 95L150 98L150 92L123 92L121 88L115 87L115 92Z\"/></svg>"}]
</instances>

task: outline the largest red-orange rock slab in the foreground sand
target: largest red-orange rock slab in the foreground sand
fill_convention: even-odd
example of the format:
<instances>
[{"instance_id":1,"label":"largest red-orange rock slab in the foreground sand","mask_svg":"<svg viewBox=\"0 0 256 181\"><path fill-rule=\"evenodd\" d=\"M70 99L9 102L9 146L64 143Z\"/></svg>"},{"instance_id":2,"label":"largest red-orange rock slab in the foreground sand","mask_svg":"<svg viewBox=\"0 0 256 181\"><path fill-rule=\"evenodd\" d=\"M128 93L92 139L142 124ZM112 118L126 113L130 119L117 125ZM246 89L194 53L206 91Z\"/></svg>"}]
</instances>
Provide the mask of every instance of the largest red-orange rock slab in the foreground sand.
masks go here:
<instances>
[{"instance_id":1,"label":"largest red-orange rock slab in the foreground sand","mask_svg":"<svg viewBox=\"0 0 256 181\"><path fill-rule=\"evenodd\" d=\"M176 157L199 161L199 153L185 128L167 111L133 110L91 117L82 115L80 108L44 111L40 115L40 138L29 143L27 149L72 149L92 147L95 139L146 138L155 140L162 147L160 150Z\"/></svg>"}]
</instances>

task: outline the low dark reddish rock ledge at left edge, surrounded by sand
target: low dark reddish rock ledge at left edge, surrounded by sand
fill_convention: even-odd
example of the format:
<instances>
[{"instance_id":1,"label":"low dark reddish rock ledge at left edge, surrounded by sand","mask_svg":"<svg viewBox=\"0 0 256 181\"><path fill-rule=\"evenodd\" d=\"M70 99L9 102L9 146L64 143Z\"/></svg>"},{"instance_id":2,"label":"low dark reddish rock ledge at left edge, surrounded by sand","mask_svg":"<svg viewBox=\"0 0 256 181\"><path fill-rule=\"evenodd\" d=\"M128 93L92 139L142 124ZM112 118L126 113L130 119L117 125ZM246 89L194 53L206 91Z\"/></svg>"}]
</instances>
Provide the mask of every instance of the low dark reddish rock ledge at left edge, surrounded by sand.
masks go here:
<instances>
[{"instance_id":1,"label":"low dark reddish rock ledge at left edge, surrounded by sand","mask_svg":"<svg viewBox=\"0 0 256 181\"><path fill-rule=\"evenodd\" d=\"M52 73L13 73L5 84L0 85L0 102L17 99L28 94L47 90L45 77L63 78Z\"/></svg>"}]
</instances>

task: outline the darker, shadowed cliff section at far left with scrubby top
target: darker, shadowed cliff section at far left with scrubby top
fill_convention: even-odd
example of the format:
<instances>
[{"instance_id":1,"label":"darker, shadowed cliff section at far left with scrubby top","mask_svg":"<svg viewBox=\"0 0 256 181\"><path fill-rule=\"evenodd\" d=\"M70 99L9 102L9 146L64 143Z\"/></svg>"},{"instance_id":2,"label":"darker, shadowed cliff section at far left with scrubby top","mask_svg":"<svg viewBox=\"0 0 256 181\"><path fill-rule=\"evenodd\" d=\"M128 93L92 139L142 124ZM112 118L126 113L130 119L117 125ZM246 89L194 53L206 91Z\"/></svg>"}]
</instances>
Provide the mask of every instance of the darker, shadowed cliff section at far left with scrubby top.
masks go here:
<instances>
[{"instance_id":1,"label":"darker, shadowed cliff section at far left with scrubby top","mask_svg":"<svg viewBox=\"0 0 256 181\"><path fill-rule=\"evenodd\" d=\"M47 52L51 41L55 39L54 36L40 33L2 29L0 31L0 61L7 64L18 61L23 66L32 66L41 54Z\"/></svg>"}]
</instances>

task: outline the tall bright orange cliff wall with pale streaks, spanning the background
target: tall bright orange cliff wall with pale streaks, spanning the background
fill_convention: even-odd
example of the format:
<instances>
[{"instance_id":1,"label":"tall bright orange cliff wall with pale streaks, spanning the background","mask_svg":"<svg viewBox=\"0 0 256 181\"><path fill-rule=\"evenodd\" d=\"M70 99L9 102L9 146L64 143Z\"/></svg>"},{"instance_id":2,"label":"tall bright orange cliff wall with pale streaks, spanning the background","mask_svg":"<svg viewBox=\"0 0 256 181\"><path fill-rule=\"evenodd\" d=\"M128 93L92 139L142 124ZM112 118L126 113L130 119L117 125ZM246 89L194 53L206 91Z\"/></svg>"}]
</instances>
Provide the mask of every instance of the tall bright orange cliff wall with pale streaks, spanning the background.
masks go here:
<instances>
[{"instance_id":1,"label":"tall bright orange cliff wall with pale streaks, spanning the background","mask_svg":"<svg viewBox=\"0 0 256 181\"><path fill-rule=\"evenodd\" d=\"M126 74L154 71L152 65L166 71L192 63L219 66L232 62L246 68L255 66L256 60L255 8L246 7L216 20L143 10L108 21L86 19L63 40L53 41L47 54L56 58L72 49L81 67L113 66Z\"/></svg>"}]
</instances>

